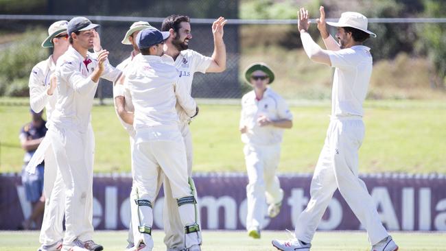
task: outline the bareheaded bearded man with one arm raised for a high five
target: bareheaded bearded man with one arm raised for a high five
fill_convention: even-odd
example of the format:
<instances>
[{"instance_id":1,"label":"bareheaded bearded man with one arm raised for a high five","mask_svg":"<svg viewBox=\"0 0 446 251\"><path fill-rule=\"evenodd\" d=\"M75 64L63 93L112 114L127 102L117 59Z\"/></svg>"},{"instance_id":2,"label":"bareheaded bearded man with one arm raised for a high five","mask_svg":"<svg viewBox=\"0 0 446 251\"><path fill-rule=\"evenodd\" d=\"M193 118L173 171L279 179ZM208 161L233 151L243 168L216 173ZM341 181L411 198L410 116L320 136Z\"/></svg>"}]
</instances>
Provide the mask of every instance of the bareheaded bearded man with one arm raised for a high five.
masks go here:
<instances>
[{"instance_id":1,"label":"bareheaded bearded man with one arm raised for a high five","mask_svg":"<svg viewBox=\"0 0 446 251\"><path fill-rule=\"evenodd\" d=\"M226 69L226 47L224 45L223 34L226 20L220 16L212 24L212 34L214 41L214 51L211 57L193 51L189 48L189 40L192 39L191 25L189 16L180 16L173 14L164 19L161 31L169 32L170 36L165 40L164 53L174 59L174 64L178 70L180 77L180 85L185 86L187 91L191 93L193 74L197 71L201 73L219 73ZM166 57L162 58L166 60ZM167 59L168 60L168 59ZM192 136L189 130L191 117L177 103L176 110L180 117L180 129L186 146L187 156L187 174L189 176L189 184L193 191L193 195L197 198L195 185L192 176ZM163 207L163 222L165 238L164 243L169 251L181 250L184 246L184 226L178 214L178 204L176 199L172 197L172 189L169 180L163 178L163 174L159 177L159 186L163 182L165 204ZM196 205L197 223L200 224L200 212ZM129 232L129 235L132 233ZM201 238L200 238L201 239ZM129 243L129 246L132 246Z\"/></svg>"}]
</instances>

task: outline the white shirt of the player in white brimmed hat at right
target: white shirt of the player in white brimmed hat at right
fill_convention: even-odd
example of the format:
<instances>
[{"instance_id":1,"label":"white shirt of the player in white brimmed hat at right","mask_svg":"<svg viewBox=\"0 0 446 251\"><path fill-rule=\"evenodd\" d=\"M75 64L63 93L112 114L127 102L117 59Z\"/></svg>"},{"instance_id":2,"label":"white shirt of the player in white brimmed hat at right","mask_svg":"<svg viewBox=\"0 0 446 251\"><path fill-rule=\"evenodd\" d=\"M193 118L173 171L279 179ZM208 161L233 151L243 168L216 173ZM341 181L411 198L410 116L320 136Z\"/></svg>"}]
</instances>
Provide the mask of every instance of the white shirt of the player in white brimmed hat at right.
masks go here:
<instances>
[{"instance_id":1,"label":"white shirt of the player in white brimmed hat at right","mask_svg":"<svg viewBox=\"0 0 446 251\"><path fill-rule=\"evenodd\" d=\"M331 116L363 116L372 75L373 59L370 48L356 45L339 51L329 51L331 67L336 67L331 93Z\"/></svg>"}]
</instances>

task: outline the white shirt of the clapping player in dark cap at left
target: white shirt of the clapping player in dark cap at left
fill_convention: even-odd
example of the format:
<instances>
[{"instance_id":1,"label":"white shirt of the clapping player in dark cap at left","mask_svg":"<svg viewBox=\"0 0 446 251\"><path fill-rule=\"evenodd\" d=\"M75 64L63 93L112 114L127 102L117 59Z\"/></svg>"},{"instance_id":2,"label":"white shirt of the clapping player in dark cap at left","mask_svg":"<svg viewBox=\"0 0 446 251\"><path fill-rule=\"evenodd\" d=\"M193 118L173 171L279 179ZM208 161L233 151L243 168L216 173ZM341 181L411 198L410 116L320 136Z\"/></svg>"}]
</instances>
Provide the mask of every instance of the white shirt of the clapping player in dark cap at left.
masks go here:
<instances>
[{"instance_id":1,"label":"white shirt of the clapping player in dark cap at left","mask_svg":"<svg viewBox=\"0 0 446 251\"><path fill-rule=\"evenodd\" d=\"M88 52L84 58L71 46L60 56L56 64L58 97L51 123L86 132L97 89L97 83L91 80L91 73L96 69L97 63L95 53ZM107 61L101 77L115 82L120 75L121 71Z\"/></svg>"}]
</instances>

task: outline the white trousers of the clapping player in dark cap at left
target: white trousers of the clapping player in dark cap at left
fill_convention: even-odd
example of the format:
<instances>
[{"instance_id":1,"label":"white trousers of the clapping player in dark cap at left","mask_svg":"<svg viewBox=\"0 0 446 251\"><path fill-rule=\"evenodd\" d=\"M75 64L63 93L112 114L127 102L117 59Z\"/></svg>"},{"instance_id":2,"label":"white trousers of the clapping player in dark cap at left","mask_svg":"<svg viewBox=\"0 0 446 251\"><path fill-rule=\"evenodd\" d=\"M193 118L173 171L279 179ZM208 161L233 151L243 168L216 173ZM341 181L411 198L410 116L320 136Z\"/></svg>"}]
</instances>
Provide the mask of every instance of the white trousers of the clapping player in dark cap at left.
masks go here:
<instances>
[{"instance_id":1,"label":"white trousers of the clapping player in dark cap at left","mask_svg":"<svg viewBox=\"0 0 446 251\"><path fill-rule=\"evenodd\" d=\"M73 129L50 127L56 163L65 184L64 246L78 238L93 238L93 129L82 133Z\"/></svg>"}]
</instances>

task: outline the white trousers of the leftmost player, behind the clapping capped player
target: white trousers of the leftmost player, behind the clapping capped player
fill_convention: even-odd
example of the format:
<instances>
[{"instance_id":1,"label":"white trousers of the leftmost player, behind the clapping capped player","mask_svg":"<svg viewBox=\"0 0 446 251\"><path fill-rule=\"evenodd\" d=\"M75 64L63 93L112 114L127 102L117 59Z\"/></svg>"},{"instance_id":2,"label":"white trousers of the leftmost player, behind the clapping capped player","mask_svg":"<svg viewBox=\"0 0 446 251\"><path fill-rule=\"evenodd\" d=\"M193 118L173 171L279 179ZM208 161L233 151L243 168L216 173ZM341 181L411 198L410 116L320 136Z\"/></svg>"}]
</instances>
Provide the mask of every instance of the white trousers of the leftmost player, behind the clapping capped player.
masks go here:
<instances>
[{"instance_id":1,"label":"white trousers of the leftmost player, behind the clapping capped player","mask_svg":"<svg viewBox=\"0 0 446 251\"><path fill-rule=\"evenodd\" d=\"M62 221L65 213L65 184L56 165L52 145L49 145L45 152L43 192L45 193L45 212L39 241L49 246L63 238Z\"/></svg>"}]
</instances>

